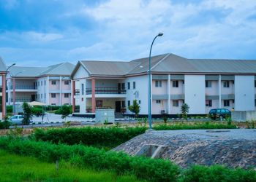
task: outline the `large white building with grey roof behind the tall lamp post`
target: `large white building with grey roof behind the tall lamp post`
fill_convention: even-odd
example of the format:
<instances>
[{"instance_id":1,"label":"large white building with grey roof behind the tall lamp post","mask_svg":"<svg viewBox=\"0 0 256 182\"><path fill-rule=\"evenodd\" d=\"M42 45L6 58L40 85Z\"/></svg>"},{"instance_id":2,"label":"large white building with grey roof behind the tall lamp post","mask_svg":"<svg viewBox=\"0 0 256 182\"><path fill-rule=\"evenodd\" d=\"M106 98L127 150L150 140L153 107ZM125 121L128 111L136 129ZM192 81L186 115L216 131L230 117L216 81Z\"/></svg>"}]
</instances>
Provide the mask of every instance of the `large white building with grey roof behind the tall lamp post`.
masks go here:
<instances>
[{"instance_id":1,"label":"large white building with grey roof behind the tall lamp post","mask_svg":"<svg viewBox=\"0 0 256 182\"><path fill-rule=\"evenodd\" d=\"M151 57L151 113L176 115L183 103L190 106L189 114L198 115L208 114L211 108L255 110L255 75L256 60L186 59L173 54ZM79 61L71 79L80 87L80 113L74 114L91 116L97 108L123 112L136 99L140 116L148 115L148 58ZM128 109L126 113L132 115Z\"/></svg>"}]
</instances>

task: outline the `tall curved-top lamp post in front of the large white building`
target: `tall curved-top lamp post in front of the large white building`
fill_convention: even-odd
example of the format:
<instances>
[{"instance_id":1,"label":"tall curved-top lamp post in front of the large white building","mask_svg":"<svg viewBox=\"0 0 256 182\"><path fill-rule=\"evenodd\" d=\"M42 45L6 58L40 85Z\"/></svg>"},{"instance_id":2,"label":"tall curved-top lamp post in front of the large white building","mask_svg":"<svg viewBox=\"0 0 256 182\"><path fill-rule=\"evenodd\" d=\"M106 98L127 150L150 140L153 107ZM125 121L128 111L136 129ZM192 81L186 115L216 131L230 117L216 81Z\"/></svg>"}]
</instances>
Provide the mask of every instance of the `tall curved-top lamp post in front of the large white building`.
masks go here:
<instances>
[{"instance_id":1,"label":"tall curved-top lamp post in front of the large white building","mask_svg":"<svg viewBox=\"0 0 256 182\"><path fill-rule=\"evenodd\" d=\"M157 36L162 36L164 33L158 33L157 34ZM155 36L154 37L154 40L155 39L157 39L157 36ZM148 97L149 97L149 103L148 103L148 111L149 111L149 113L148 113L148 122L149 122L149 130L151 130L152 129L152 118L151 118L151 50L152 50L152 46L153 46L153 44L154 44L154 40L152 41L152 44L151 44L151 47L150 47L150 52L149 52L149 73L148 73L148 90L149 90L149 95L148 95Z\"/></svg>"}]
</instances>

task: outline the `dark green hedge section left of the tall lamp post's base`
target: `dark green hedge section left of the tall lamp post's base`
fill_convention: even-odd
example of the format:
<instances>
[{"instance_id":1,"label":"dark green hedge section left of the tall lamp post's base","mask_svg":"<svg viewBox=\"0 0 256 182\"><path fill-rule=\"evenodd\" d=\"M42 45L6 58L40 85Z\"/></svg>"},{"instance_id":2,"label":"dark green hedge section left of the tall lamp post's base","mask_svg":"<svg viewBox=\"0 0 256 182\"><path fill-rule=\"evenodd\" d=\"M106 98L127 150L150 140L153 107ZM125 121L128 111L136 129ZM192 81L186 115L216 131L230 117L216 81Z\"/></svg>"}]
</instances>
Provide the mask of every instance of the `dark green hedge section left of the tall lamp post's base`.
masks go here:
<instances>
[{"instance_id":1,"label":"dark green hedge section left of the tall lamp post's base","mask_svg":"<svg viewBox=\"0 0 256 182\"><path fill-rule=\"evenodd\" d=\"M51 141L52 143L67 143L74 145L82 142L86 146L118 146L121 143L143 134L147 127L127 127L123 128L103 128L103 127L83 127L83 128L61 128L44 131L37 129L35 138L37 141Z\"/></svg>"}]
</instances>

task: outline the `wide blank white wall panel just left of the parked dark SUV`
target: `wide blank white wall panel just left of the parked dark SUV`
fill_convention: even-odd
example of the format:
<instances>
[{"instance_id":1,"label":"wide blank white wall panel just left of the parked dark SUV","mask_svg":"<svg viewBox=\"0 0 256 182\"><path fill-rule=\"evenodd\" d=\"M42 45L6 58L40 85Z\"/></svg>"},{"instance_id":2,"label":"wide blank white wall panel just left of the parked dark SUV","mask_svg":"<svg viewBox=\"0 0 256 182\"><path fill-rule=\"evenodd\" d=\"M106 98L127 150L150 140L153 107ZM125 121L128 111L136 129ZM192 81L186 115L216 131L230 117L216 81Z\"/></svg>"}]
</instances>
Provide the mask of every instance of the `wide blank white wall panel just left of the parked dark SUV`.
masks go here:
<instances>
[{"instance_id":1,"label":"wide blank white wall panel just left of the parked dark SUV","mask_svg":"<svg viewBox=\"0 0 256 182\"><path fill-rule=\"evenodd\" d=\"M185 75L185 103L189 114L206 112L206 80L204 75Z\"/></svg>"}]
</instances>

